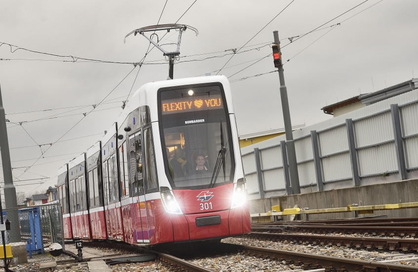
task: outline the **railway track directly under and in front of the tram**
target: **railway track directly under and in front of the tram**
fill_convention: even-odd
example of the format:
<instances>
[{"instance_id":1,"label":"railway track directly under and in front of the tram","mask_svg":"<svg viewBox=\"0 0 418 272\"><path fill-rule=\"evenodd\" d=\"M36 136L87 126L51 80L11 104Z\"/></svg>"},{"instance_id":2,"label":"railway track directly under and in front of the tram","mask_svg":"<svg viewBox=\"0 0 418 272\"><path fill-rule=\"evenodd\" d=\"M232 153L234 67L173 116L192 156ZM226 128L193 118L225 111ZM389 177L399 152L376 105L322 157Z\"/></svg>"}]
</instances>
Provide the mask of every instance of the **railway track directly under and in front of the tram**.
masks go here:
<instances>
[{"instance_id":1,"label":"railway track directly under and in front of the tram","mask_svg":"<svg viewBox=\"0 0 418 272\"><path fill-rule=\"evenodd\" d=\"M155 254L157 262L160 262L170 271L175 272L213 272L214 270L198 266L180 256L171 255L168 252L161 250L153 250L144 247L131 246L124 243L101 243L101 242L86 242L86 246L98 246L109 248L119 248L125 250L132 250L142 254ZM180 246L177 246L177 253ZM247 245L237 245L229 243L218 243L213 248L205 248L203 251L198 248L194 252L183 252L184 256L188 258L215 256L229 252L232 254L240 253L241 255L253 256L260 259L269 259L278 263L293 265L300 267L302 270L318 270L325 272L418 272L417 266L407 266L399 264L384 264L379 262L371 262L364 260L356 260L349 258L338 258L333 256L317 255L310 253L294 252L288 250L279 250L263 247L254 247ZM186 254L184 254L186 253ZM182 257L184 257L182 256Z\"/></svg>"}]
</instances>

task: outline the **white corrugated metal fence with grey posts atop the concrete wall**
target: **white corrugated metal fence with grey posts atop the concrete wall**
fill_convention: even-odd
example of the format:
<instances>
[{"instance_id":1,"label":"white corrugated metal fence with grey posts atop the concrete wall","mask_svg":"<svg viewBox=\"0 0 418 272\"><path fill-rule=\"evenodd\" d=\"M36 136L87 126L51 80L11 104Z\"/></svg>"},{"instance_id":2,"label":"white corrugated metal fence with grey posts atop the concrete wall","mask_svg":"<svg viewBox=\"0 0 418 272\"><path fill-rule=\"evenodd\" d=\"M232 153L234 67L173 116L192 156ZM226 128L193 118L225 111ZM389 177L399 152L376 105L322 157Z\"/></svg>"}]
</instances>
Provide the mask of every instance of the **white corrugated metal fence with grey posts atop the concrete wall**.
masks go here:
<instances>
[{"instance_id":1,"label":"white corrugated metal fence with grey posts atop the concrete wall","mask_svg":"<svg viewBox=\"0 0 418 272\"><path fill-rule=\"evenodd\" d=\"M418 177L417 117L414 90L294 131L302 193ZM241 148L250 199L286 193L284 146L283 135Z\"/></svg>"}]
</instances>

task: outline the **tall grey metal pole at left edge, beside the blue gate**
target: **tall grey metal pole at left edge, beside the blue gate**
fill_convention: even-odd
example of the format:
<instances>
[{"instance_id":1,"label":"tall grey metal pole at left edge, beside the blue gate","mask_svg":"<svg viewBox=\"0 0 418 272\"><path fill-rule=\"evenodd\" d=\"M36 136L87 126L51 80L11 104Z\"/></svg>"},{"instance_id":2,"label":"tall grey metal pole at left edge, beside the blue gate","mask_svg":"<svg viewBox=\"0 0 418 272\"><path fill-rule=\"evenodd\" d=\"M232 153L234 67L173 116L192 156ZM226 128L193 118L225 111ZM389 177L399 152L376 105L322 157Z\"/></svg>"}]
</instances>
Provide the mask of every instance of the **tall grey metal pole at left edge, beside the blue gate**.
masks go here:
<instances>
[{"instance_id":1,"label":"tall grey metal pole at left edge, beside the blue gate","mask_svg":"<svg viewBox=\"0 0 418 272\"><path fill-rule=\"evenodd\" d=\"M17 208L16 188L13 184L12 168L10 164L10 150L9 141L7 138L6 118L4 114L3 100L1 98L0 87L0 149L1 149L1 163L3 166L4 178L4 201L6 208ZM10 210L7 212L7 219L10 220L12 230L9 231L10 242L20 242L20 225L17 210ZM2 224L2 223L1 223Z\"/></svg>"}]
</instances>

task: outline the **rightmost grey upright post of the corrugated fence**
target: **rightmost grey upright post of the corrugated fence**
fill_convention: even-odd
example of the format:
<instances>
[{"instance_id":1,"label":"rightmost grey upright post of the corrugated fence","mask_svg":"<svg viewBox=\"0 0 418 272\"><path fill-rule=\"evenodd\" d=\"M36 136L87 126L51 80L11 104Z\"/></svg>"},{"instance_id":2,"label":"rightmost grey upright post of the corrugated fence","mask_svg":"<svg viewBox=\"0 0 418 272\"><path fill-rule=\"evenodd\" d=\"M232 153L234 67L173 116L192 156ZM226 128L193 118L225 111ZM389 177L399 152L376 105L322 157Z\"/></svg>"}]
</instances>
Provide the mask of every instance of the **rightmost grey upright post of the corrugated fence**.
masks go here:
<instances>
[{"instance_id":1,"label":"rightmost grey upright post of the corrugated fence","mask_svg":"<svg viewBox=\"0 0 418 272\"><path fill-rule=\"evenodd\" d=\"M390 105L390 113L392 114L393 135L395 136L396 156L398 159L399 177L401 180L407 179L404 142L402 139L401 119L399 115L398 104Z\"/></svg>"}]
</instances>

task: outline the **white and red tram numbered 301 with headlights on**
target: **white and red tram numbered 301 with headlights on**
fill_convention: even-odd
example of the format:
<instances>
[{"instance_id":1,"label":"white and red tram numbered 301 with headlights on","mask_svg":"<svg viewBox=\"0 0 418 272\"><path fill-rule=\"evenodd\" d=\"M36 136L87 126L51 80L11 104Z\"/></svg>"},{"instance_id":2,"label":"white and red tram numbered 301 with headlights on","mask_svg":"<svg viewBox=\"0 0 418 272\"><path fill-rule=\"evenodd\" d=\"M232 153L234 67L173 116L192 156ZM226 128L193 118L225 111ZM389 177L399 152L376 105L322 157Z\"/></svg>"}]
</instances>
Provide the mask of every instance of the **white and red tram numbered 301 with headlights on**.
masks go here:
<instances>
[{"instance_id":1,"label":"white and red tram numbered 301 with headlights on","mask_svg":"<svg viewBox=\"0 0 418 272\"><path fill-rule=\"evenodd\" d=\"M225 76L143 85L86 154L87 171L84 154L69 163L67 178L59 170L57 186L70 194L60 196L71 211L68 238L159 244L251 231Z\"/></svg>"}]
</instances>

